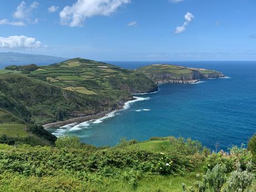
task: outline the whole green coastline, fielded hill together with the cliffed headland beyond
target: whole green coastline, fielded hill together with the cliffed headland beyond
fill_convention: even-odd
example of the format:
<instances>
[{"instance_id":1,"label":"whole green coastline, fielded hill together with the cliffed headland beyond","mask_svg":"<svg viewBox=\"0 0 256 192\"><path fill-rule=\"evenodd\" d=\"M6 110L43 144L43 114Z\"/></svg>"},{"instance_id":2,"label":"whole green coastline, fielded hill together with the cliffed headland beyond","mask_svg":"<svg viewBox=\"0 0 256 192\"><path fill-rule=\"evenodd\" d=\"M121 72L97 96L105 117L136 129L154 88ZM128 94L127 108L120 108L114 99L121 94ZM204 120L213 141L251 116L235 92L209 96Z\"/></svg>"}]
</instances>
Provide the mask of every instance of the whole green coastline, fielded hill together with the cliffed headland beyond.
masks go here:
<instances>
[{"instance_id":1,"label":"whole green coastline, fielded hill together with the cliffed headland beyond","mask_svg":"<svg viewBox=\"0 0 256 192\"><path fill-rule=\"evenodd\" d=\"M132 94L157 91L159 83L218 77L223 73L201 68L155 64L127 70L83 58L48 66L11 65L0 70L0 126L28 132L27 125L52 127L97 119L122 109L134 99Z\"/></svg>"}]
</instances>

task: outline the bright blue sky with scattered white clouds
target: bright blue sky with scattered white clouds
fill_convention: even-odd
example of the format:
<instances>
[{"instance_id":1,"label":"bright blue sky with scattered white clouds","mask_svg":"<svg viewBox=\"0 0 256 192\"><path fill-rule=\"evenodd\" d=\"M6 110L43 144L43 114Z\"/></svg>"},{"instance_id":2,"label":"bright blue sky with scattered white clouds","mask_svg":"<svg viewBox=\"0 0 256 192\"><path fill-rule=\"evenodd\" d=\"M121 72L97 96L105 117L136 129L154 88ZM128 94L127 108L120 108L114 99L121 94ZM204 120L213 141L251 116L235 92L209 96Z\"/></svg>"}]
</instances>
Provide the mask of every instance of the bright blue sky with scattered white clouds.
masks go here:
<instances>
[{"instance_id":1,"label":"bright blue sky with scattered white clouds","mask_svg":"<svg viewBox=\"0 0 256 192\"><path fill-rule=\"evenodd\" d=\"M255 0L0 3L0 52L98 61L256 60Z\"/></svg>"}]
</instances>

